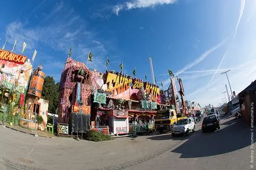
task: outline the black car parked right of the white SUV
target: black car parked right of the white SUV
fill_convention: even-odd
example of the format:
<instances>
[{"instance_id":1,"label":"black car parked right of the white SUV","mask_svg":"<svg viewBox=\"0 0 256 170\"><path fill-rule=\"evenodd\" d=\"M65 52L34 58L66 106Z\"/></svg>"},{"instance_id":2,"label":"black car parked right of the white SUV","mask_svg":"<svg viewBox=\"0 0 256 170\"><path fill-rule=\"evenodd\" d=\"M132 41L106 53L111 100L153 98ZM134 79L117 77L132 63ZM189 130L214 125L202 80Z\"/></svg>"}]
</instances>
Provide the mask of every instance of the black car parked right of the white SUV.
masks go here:
<instances>
[{"instance_id":1,"label":"black car parked right of the white SUV","mask_svg":"<svg viewBox=\"0 0 256 170\"><path fill-rule=\"evenodd\" d=\"M204 118L202 122L202 132L205 132L207 129L216 130L221 128L221 118L218 115L209 115Z\"/></svg>"}]
</instances>

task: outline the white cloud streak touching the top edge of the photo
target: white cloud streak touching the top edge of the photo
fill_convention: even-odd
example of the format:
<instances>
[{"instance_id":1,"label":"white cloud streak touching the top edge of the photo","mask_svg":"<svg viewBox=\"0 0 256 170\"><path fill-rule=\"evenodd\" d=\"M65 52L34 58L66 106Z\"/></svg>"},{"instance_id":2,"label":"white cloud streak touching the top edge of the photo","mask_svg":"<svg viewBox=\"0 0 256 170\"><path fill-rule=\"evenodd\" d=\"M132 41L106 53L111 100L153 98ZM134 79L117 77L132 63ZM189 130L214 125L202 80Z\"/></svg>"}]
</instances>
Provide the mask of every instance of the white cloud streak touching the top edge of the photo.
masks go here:
<instances>
[{"instance_id":1,"label":"white cloud streak touching the top edge of the photo","mask_svg":"<svg viewBox=\"0 0 256 170\"><path fill-rule=\"evenodd\" d=\"M133 0L131 2L125 2L114 6L114 14L119 15L119 12L123 9L130 10L134 8L153 8L156 5L174 4L178 0Z\"/></svg>"}]
</instances>

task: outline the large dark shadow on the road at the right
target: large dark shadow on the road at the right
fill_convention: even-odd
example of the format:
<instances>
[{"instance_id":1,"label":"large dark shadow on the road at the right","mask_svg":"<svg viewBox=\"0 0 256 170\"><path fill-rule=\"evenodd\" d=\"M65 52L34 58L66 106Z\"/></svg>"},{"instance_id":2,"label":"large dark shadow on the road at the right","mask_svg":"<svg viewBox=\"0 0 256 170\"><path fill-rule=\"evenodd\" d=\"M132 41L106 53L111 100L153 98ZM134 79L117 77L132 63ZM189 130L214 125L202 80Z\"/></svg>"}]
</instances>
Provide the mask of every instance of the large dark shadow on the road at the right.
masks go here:
<instances>
[{"instance_id":1,"label":"large dark shadow on the road at the right","mask_svg":"<svg viewBox=\"0 0 256 170\"><path fill-rule=\"evenodd\" d=\"M188 141L171 152L182 154L180 158L198 158L225 154L249 146L250 127L241 119L228 122L229 125L215 132L196 132Z\"/></svg>"}]
</instances>

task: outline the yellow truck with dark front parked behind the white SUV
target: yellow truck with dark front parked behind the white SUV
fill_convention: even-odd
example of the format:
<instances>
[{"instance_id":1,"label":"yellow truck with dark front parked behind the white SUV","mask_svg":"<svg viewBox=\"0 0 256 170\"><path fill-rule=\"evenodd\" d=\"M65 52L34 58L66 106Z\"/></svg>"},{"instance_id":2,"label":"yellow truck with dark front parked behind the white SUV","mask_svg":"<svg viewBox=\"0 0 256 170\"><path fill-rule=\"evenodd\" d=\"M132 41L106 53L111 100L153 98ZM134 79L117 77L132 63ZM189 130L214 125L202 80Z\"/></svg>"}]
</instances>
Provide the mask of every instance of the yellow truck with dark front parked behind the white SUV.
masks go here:
<instances>
[{"instance_id":1,"label":"yellow truck with dark front parked behind the white SUV","mask_svg":"<svg viewBox=\"0 0 256 170\"><path fill-rule=\"evenodd\" d=\"M163 130L171 130L179 119L182 119L182 115L177 115L174 109L164 109L156 112L155 129L160 133Z\"/></svg>"}]
</instances>

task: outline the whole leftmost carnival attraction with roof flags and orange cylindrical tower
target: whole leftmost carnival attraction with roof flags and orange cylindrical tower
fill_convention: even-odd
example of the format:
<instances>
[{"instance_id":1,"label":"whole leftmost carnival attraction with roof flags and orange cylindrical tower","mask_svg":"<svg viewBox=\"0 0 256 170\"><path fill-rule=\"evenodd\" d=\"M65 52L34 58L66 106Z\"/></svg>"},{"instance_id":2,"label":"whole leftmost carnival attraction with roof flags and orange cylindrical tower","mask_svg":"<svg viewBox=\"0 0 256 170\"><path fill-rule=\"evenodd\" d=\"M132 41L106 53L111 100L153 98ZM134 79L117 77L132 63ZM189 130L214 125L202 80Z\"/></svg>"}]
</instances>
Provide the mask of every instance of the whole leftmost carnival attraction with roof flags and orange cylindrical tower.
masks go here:
<instances>
[{"instance_id":1,"label":"whole leftmost carnival attraction with roof flags and orange cylindrical tower","mask_svg":"<svg viewBox=\"0 0 256 170\"><path fill-rule=\"evenodd\" d=\"M23 55L25 46L22 54L12 52L14 48L11 52L7 51L4 46L0 49L0 119L10 124L35 129L38 127L34 123L35 116L42 116L45 128L48 101L41 99L45 78L44 72L41 71L42 66L33 71L30 59ZM36 51L32 60L35 55Z\"/></svg>"}]
</instances>

